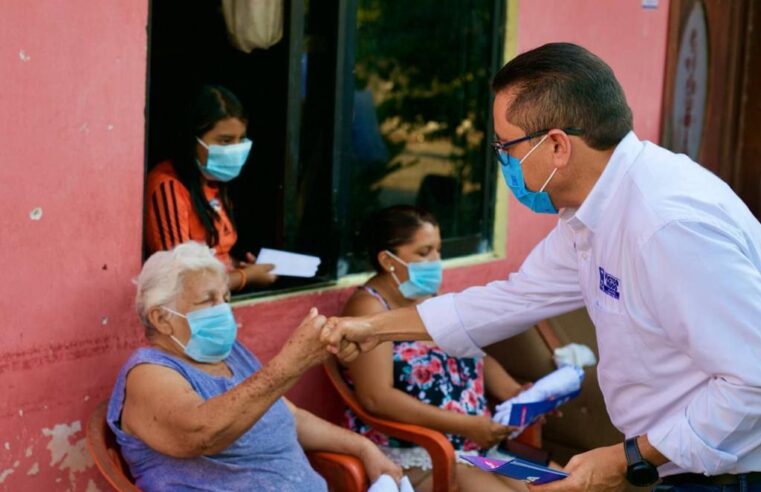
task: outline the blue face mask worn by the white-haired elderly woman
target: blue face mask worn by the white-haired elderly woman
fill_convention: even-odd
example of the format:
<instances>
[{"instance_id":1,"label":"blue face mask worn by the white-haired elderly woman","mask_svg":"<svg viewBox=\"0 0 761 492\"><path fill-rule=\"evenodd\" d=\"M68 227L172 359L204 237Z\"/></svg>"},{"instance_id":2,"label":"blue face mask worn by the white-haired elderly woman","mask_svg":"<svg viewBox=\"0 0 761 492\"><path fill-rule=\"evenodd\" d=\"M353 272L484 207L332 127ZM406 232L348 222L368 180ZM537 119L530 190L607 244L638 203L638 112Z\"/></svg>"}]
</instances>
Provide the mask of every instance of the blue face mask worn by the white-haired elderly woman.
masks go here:
<instances>
[{"instance_id":1,"label":"blue face mask worn by the white-haired elderly woman","mask_svg":"<svg viewBox=\"0 0 761 492\"><path fill-rule=\"evenodd\" d=\"M230 355L238 334L238 323L228 303L190 311L187 315L167 307L164 309L188 320L190 339L187 345L170 335L185 355L196 362L219 362Z\"/></svg>"}]
</instances>

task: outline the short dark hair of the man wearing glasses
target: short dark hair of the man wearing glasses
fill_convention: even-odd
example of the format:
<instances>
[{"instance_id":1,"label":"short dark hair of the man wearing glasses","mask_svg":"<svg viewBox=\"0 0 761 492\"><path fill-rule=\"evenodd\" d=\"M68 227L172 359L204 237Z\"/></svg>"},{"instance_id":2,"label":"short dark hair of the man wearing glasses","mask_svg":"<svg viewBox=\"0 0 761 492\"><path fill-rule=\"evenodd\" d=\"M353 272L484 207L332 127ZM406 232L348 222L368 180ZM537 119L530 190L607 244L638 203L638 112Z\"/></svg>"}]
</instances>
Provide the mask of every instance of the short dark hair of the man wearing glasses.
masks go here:
<instances>
[{"instance_id":1,"label":"short dark hair of the man wearing glasses","mask_svg":"<svg viewBox=\"0 0 761 492\"><path fill-rule=\"evenodd\" d=\"M526 134L579 128L590 147L606 150L632 129L632 112L613 70L571 43L549 43L518 55L494 77L494 92L515 90L507 119Z\"/></svg>"}]
</instances>

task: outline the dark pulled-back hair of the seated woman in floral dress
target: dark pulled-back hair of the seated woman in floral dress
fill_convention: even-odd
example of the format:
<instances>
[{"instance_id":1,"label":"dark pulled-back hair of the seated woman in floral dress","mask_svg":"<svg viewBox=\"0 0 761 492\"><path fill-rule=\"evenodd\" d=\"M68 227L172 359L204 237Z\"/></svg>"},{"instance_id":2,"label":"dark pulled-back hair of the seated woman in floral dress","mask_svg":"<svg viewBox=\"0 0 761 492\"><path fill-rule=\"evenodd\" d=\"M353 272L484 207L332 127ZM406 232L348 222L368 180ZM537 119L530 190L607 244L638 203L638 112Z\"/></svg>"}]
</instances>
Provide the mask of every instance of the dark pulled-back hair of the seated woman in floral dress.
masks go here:
<instances>
[{"instance_id":1,"label":"dark pulled-back hair of the seated woman in floral dress","mask_svg":"<svg viewBox=\"0 0 761 492\"><path fill-rule=\"evenodd\" d=\"M389 250L396 254L396 248L412 241L424 224L439 225L432 213L413 205L394 205L370 216L364 224L362 236L375 271L383 272L383 267L378 263L378 253Z\"/></svg>"}]
</instances>

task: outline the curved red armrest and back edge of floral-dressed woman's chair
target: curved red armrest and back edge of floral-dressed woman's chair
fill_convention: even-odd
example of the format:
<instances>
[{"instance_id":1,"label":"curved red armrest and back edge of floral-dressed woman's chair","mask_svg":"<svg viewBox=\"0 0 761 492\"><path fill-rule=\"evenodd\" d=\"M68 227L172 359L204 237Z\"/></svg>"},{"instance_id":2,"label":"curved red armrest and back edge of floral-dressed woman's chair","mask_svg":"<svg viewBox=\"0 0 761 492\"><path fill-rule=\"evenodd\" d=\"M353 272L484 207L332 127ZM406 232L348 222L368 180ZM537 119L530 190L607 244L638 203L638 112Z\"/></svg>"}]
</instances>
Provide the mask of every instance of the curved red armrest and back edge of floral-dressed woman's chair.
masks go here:
<instances>
[{"instance_id":1,"label":"curved red armrest and back edge of floral-dressed woman's chair","mask_svg":"<svg viewBox=\"0 0 761 492\"><path fill-rule=\"evenodd\" d=\"M349 388L341 374L341 369L334 357L323 365L333 388L343 402L367 425L390 436L410 441L422 446L431 456L433 463L433 491L454 492L457 481L454 478L454 448L444 434L418 425L394 422L368 413L357 400L354 391Z\"/></svg>"}]
</instances>

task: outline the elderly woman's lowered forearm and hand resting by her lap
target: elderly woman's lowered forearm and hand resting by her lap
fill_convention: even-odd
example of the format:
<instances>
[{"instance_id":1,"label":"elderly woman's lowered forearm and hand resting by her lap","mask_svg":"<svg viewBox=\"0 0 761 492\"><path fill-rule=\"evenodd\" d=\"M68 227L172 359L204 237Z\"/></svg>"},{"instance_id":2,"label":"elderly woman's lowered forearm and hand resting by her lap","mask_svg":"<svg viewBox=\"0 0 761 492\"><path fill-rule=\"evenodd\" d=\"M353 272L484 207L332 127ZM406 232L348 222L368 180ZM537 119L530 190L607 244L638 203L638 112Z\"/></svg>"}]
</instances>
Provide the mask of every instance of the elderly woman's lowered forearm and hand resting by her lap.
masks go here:
<instances>
[{"instance_id":1,"label":"elderly woman's lowered forearm and hand resting by her lap","mask_svg":"<svg viewBox=\"0 0 761 492\"><path fill-rule=\"evenodd\" d=\"M358 457L365 465L371 482L382 474L391 475L397 482L402 469L395 465L369 439L323 420L286 400L296 420L296 434L305 451L331 451Z\"/></svg>"}]
</instances>

